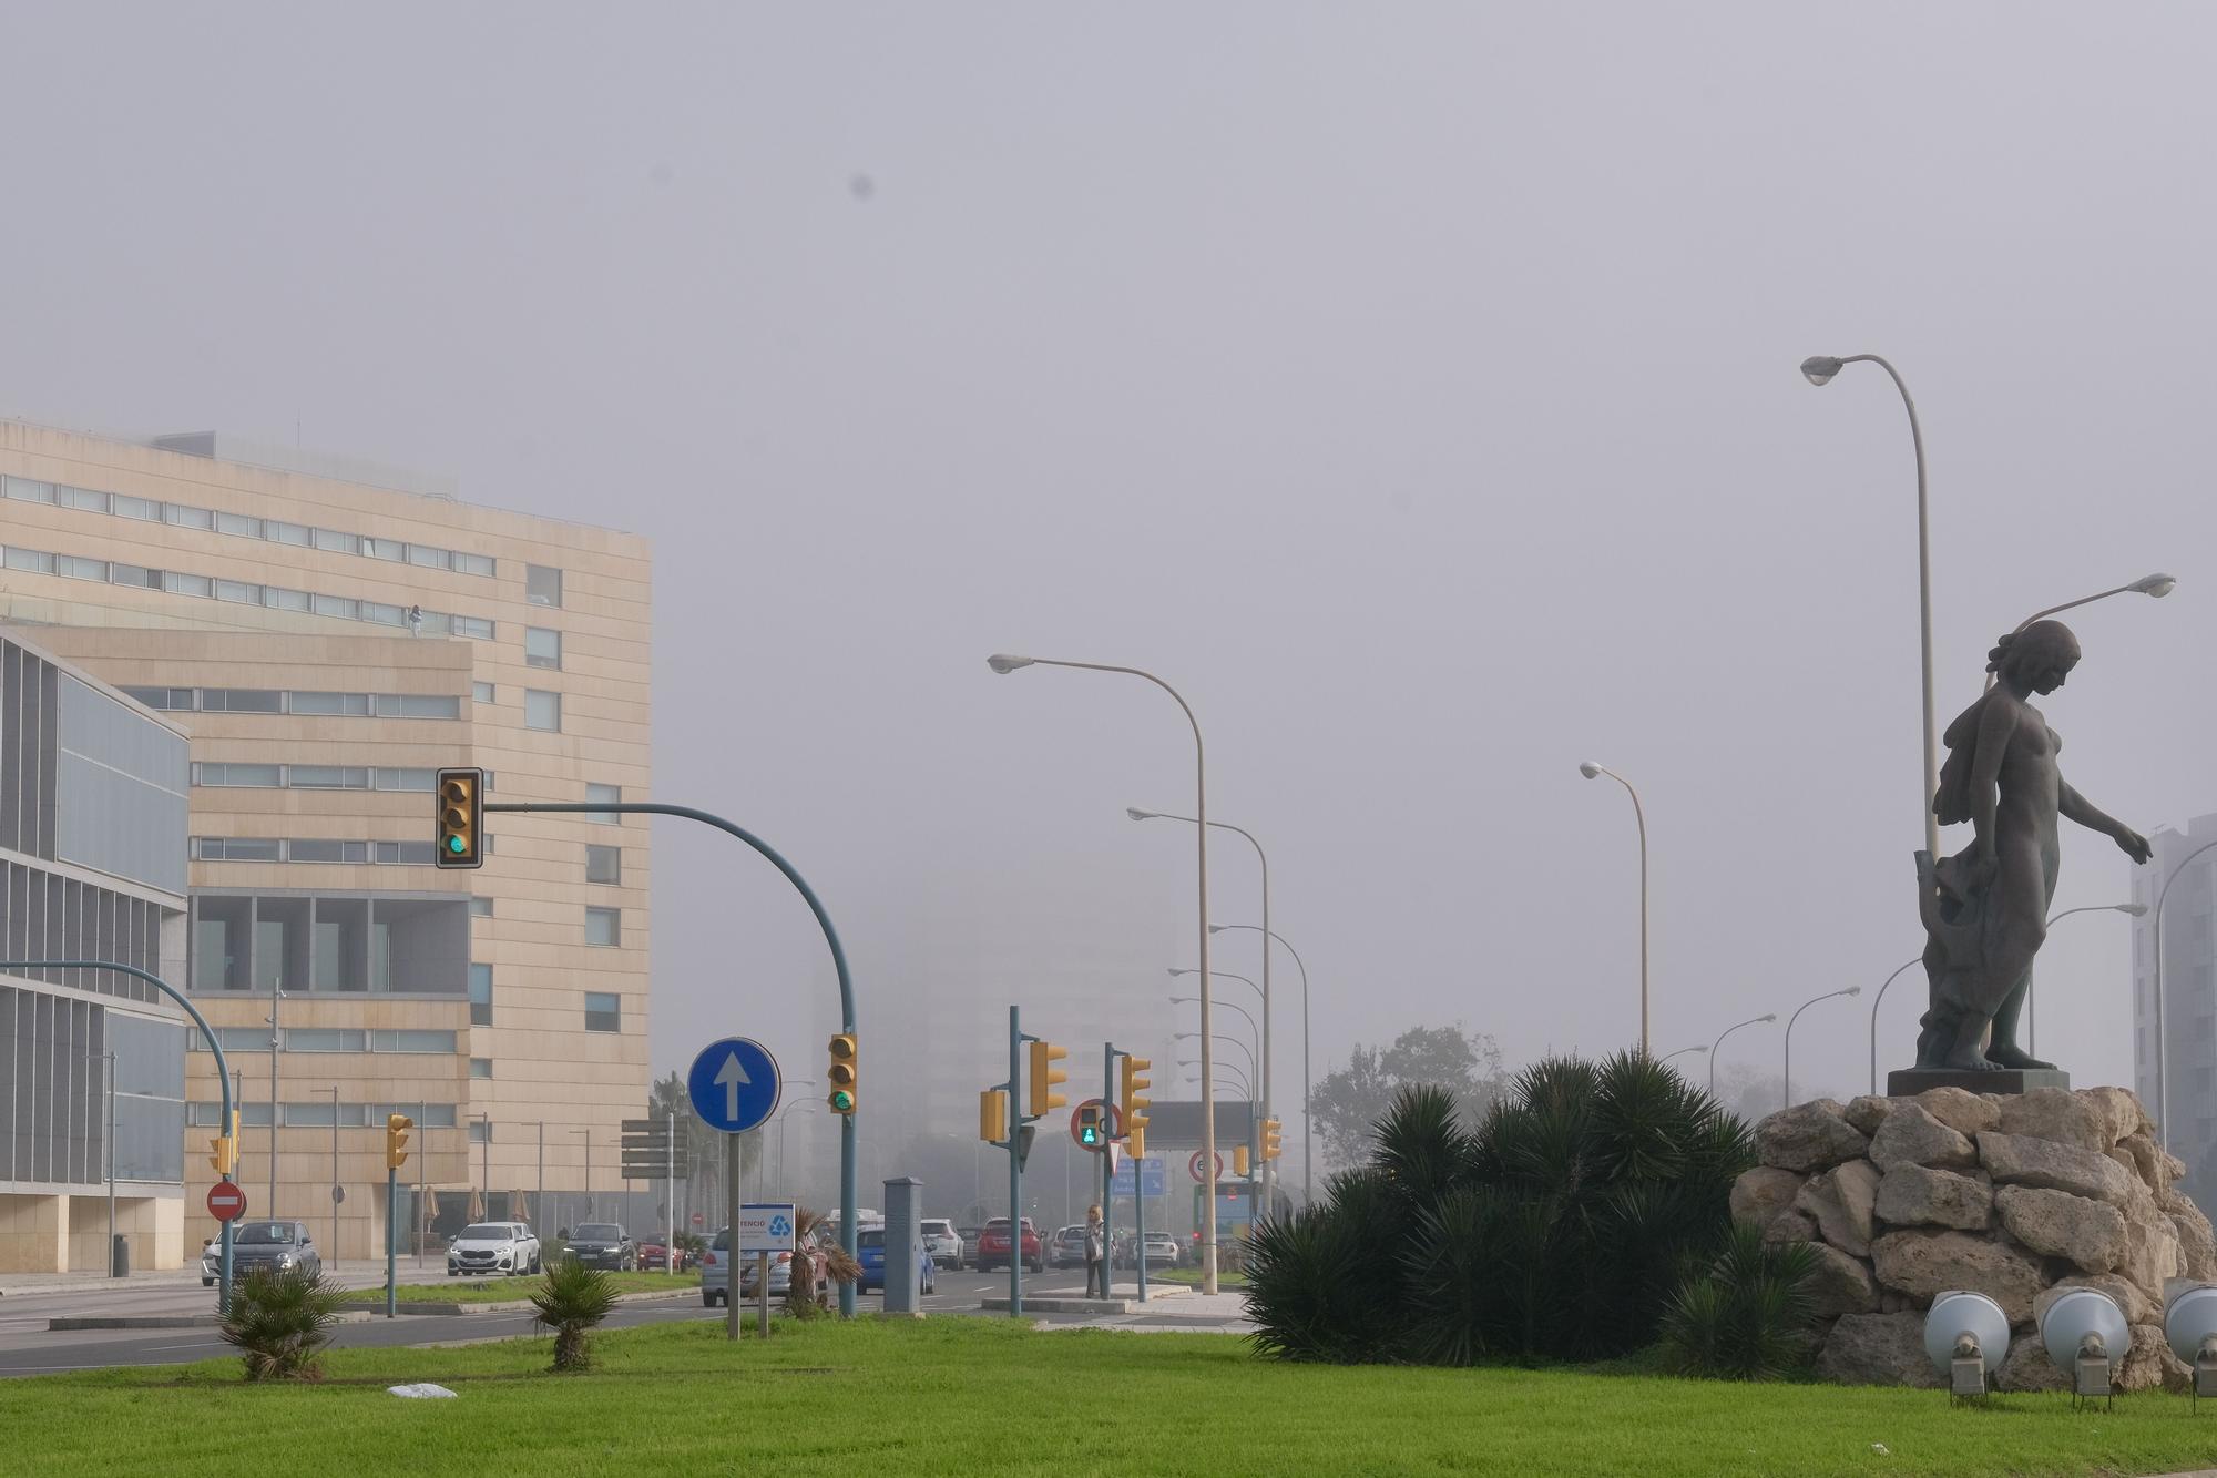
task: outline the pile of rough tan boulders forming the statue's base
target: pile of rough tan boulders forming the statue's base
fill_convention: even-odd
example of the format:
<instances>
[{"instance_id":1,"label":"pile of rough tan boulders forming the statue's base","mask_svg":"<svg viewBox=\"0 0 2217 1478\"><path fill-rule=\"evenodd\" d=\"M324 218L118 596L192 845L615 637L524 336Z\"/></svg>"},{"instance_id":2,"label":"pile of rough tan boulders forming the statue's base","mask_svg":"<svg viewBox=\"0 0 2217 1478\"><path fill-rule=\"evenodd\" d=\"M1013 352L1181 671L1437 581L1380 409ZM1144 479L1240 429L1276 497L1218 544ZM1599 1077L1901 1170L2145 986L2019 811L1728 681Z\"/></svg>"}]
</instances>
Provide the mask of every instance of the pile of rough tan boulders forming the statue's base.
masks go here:
<instances>
[{"instance_id":1,"label":"pile of rough tan boulders forming the statue's base","mask_svg":"<svg viewBox=\"0 0 2217 1478\"><path fill-rule=\"evenodd\" d=\"M1758 1123L1756 1158L1731 1216L1816 1252L1822 1378L1942 1385L1924 1309L1971 1289L2009 1314L1998 1387L2064 1389L2037 1318L2064 1289L2095 1287L2133 1325L2119 1389L2186 1389L2190 1371L2164 1345L2164 1283L2217 1283L2217 1236L2126 1090L1818 1099Z\"/></svg>"}]
</instances>

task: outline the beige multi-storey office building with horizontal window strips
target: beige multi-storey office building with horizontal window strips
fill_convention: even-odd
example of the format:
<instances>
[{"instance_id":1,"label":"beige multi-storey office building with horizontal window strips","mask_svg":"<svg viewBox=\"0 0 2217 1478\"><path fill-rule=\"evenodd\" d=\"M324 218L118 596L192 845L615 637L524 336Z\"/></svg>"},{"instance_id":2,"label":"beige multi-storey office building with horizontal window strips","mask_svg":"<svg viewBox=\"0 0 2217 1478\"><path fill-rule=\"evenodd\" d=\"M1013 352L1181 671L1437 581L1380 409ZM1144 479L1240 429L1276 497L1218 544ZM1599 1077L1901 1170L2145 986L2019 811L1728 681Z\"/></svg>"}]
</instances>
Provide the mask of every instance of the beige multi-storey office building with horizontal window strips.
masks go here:
<instances>
[{"instance_id":1,"label":"beige multi-storey office building with horizontal window strips","mask_svg":"<svg viewBox=\"0 0 2217 1478\"><path fill-rule=\"evenodd\" d=\"M616 1212L650 1081L647 826L497 814L483 870L439 870L430 777L647 794L645 539L290 448L0 422L0 621L191 737L188 990L237 1070L248 1214L381 1254L392 1112L417 1121L401 1181L432 1192L403 1194L403 1249L426 1201L439 1229ZM186 1096L197 1247L204 1050Z\"/></svg>"}]
</instances>

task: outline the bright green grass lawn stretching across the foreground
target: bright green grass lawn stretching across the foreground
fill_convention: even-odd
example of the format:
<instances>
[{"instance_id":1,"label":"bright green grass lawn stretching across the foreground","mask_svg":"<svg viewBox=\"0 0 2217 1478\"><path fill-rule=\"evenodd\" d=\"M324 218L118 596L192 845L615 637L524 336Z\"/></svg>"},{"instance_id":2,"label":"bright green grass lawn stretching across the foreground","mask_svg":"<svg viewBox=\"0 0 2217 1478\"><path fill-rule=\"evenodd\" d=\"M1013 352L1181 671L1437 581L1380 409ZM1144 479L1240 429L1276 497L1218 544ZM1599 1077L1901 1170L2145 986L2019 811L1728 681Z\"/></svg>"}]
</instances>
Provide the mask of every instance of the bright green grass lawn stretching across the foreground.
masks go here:
<instances>
[{"instance_id":1,"label":"bright green grass lawn stretching across the foreground","mask_svg":"<svg viewBox=\"0 0 2217 1478\"><path fill-rule=\"evenodd\" d=\"M62 1474L2159 1474L2217 1462L2217 1416L2139 1394L1949 1409L1938 1391L1516 1369L1275 1365L1206 1334L989 1318L712 1323L596 1338L355 1349L324 1385L237 1360L0 1385L0 1469ZM384 1385L439 1380L461 1400ZM1882 1447L1880 1447L1882 1445Z\"/></svg>"}]
</instances>

